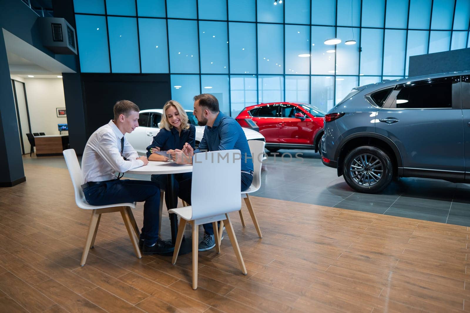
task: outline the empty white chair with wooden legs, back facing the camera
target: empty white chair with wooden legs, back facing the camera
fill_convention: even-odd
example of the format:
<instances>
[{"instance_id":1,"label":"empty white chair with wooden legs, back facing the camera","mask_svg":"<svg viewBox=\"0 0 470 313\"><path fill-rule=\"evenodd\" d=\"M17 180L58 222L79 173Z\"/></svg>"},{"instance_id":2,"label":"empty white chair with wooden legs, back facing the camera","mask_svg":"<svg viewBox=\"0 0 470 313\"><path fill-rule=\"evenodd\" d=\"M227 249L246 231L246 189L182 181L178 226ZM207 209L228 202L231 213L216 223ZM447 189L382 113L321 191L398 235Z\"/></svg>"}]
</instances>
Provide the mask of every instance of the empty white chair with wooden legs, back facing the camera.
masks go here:
<instances>
[{"instance_id":1,"label":"empty white chair with wooden legs, back facing the camera","mask_svg":"<svg viewBox=\"0 0 470 313\"><path fill-rule=\"evenodd\" d=\"M223 150L197 153L193 158L193 180L191 184L191 204L170 212L180 216L180 226L176 237L172 263L180 251L181 240L187 223L193 227L193 289L197 289L197 255L199 225L212 223L216 251L220 253L217 221L223 220L227 229L242 273L247 274L242 253L235 237L228 213L239 211L240 198L240 150Z\"/></svg>"}]
</instances>

